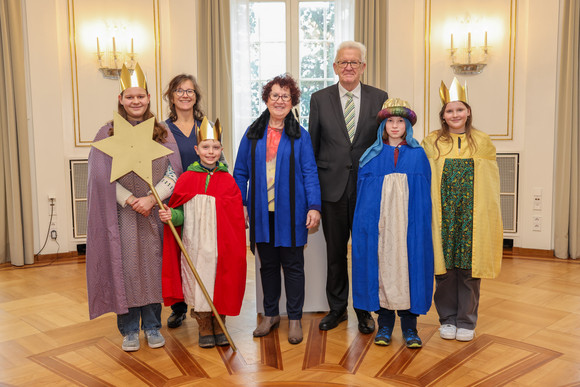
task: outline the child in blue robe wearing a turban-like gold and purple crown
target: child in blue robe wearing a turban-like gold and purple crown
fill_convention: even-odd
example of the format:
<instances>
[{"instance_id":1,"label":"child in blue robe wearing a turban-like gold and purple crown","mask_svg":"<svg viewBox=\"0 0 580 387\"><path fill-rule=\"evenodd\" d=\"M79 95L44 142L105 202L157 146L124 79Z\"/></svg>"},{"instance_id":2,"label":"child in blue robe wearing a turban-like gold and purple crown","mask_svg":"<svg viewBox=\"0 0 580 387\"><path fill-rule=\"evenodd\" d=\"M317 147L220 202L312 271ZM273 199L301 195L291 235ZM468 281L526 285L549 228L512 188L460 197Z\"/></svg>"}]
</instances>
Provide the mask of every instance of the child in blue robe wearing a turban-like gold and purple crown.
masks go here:
<instances>
[{"instance_id":1,"label":"child in blue robe wearing a turban-like gold and purple crown","mask_svg":"<svg viewBox=\"0 0 580 387\"><path fill-rule=\"evenodd\" d=\"M388 99L376 142L360 159L352 231L354 307L378 314L375 344L389 345L395 311L409 348L420 348L417 316L433 296L431 168L413 138L415 112Z\"/></svg>"}]
</instances>

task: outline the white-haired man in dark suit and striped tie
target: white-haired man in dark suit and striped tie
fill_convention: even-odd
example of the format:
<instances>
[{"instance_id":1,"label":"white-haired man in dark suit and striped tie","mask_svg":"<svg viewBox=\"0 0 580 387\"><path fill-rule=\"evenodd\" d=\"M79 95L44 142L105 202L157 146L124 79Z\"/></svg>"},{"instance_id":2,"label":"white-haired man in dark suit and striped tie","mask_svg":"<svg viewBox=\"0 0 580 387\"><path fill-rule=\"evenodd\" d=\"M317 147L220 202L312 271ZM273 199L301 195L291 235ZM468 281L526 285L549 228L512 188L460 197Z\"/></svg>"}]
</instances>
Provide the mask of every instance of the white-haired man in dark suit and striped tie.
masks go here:
<instances>
[{"instance_id":1,"label":"white-haired man in dark suit and striped tie","mask_svg":"<svg viewBox=\"0 0 580 387\"><path fill-rule=\"evenodd\" d=\"M377 113L388 95L360 82L366 68L366 47L347 41L334 59L338 83L312 94L308 131L318 165L322 194L322 227L326 239L326 297L330 312L320 322L321 330L335 328L347 319L347 245L356 204L358 162L376 140ZM358 329L372 333L370 313L355 309Z\"/></svg>"}]
</instances>

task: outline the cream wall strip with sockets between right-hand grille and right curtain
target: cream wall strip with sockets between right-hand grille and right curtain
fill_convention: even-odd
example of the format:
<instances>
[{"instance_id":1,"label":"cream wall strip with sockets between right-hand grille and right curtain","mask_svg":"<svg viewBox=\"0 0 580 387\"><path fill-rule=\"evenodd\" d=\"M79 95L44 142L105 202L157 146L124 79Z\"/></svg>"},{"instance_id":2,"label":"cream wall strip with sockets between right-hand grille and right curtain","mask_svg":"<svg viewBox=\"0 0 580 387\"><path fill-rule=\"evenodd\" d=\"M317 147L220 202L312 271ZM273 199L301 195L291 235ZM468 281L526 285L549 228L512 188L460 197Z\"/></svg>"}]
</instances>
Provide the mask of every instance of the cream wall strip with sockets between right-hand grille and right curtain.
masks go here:
<instances>
[{"instance_id":1,"label":"cream wall strip with sockets between right-hand grille and right curtain","mask_svg":"<svg viewBox=\"0 0 580 387\"><path fill-rule=\"evenodd\" d=\"M554 132L557 84L558 17L556 2L530 1L525 31L526 49L521 57L525 92L517 130L522 134L520 159L520 208L518 246L553 249L552 192L554 184ZM558 3L556 3L557 5ZM542 190L541 211L533 210L532 195ZM542 217L542 231L532 231L532 216Z\"/></svg>"}]
</instances>

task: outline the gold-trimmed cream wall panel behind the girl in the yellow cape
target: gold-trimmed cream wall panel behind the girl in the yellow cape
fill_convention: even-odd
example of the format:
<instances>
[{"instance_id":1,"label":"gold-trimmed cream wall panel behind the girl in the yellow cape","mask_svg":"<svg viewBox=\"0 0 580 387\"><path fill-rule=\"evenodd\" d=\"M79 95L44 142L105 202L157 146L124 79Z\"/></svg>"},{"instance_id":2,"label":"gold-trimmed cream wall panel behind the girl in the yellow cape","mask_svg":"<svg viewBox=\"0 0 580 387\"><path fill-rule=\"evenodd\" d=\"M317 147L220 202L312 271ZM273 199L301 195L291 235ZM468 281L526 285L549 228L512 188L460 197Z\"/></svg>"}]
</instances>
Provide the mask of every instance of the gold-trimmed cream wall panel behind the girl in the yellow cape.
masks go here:
<instances>
[{"instance_id":1,"label":"gold-trimmed cream wall panel behind the girl in the yellow cape","mask_svg":"<svg viewBox=\"0 0 580 387\"><path fill-rule=\"evenodd\" d=\"M439 86L457 76L467 81L474 125L493 140L513 140L515 106L515 61L517 0L462 2L425 0L425 68L423 131L426 136L440 128ZM471 23L473 27L466 27ZM479 24L478 24L479 23ZM477 75L455 75L450 67L450 33L453 26L467 31L488 31L489 57L485 71ZM455 31L456 32L456 31ZM455 33L455 47L466 44ZM462 37L465 34L459 34ZM474 34L475 36L475 34ZM481 34L483 36L483 33ZM482 42L480 42L483 44ZM477 44L477 43L475 43ZM493 98L489 98L493 95Z\"/></svg>"}]
</instances>

